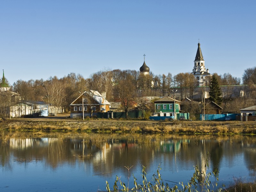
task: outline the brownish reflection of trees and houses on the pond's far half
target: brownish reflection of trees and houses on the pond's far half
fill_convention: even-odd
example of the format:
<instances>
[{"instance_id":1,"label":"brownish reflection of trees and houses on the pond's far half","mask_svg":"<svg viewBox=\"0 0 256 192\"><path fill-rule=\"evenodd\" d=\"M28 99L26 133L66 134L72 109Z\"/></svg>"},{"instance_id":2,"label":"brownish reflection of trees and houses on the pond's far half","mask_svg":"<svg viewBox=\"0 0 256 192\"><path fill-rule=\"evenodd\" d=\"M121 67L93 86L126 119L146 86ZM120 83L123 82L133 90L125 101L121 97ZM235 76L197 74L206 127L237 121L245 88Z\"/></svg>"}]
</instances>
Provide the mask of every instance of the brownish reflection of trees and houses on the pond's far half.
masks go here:
<instances>
[{"instance_id":1,"label":"brownish reflection of trees and houses on the pond's far half","mask_svg":"<svg viewBox=\"0 0 256 192\"><path fill-rule=\"evenodd\" d=\"M127 172L124 166L155 170L153 162L162 167L179 170L197 165L203 170L208 158L210 169L220 169L225 157L227 164L236 162L235 156L244 154L244 161L252 174L256 169L255 137L179 134L98 134L98 133L50 133L36 136L33 133L9 133L10 139L0 140L1 165L11 169L12 158L43 161L55 168L60 164L86 162L92 165L94 174ZM207 156L209 152L209 156ZM168 165L168 166L165 166ZM189 166L189 167L188 167ZM165 169L166 170L166 169ZM166 170L168 171L168 170ZM170 170L171 171L171 170Z\"/></svg>"}]
</instances>

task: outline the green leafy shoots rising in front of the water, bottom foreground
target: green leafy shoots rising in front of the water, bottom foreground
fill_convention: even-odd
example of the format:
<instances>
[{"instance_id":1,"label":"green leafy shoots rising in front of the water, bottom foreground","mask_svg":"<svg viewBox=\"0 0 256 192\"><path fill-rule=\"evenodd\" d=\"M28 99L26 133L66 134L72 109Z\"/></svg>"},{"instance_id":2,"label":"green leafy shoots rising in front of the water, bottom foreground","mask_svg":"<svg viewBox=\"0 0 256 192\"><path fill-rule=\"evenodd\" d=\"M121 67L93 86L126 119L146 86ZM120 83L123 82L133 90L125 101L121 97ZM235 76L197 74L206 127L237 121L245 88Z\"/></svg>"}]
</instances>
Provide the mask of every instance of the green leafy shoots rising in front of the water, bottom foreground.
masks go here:
<instances>
[{"instance_id":1,"label":"green leafy shoots rising in front of the water, bottom foreground","mask_svg":"<svg viewBox=\"0 0 256 192\"><path fill-rule=\"evenodd\" d=\"M205 164L205 171L206 171L206 166L208 166L208 161L206 159L206 164ZM158 166L156 173L153 174L151 180L147 180L147 173L146 173L146 168L142 166L142 184L137 182L137 178L134 177L133 175L133 187L129 188L129 180L130 180L130 168L126 167L128 169L128 183L127 185L122 182L120 177L116 176L116 180L114 182L113 190L110 190L109 183L106 181L106 189L107 192L118 192L118 191L125 191L125 192L146 192L146 191L152 191L152 192L164 192L164 191L170 191L170 192L184 192L188 190L188 192L194 191L194 192L203 192L203 191L218 191L220 192L223 190L222 188L217 188L218 186L218 174L219 172L217 170L214 170L212 172L208 172L207 174L204 174L200 172L197 168L195 167L195 172L191 179L188 181L187 184L180 182L179 186L175 185L174 187L169 187L168 183L165 183L164 180L162 179L162 176L160 174L160 165ZM211 179L214 179L214 182L211 181ZM169 181L170 182L170 181ZM172 181L171 181L172 182ZM223 186L224 187L224 186Z\"/></svg>"}]
</instances>

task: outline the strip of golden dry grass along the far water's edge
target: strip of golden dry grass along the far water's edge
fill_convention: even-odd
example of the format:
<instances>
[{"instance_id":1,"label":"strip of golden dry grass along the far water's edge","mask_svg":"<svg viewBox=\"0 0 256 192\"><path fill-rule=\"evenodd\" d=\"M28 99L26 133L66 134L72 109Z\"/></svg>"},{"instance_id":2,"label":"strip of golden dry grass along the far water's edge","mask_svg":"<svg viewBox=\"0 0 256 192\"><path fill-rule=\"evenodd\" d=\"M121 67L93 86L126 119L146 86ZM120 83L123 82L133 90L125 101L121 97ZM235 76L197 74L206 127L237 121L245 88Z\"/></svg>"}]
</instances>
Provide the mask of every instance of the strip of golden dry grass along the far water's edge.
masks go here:
<instances>
[{"instance_id":1,"label":"strip of golden dry grass along the far water's edge","mask_svg":"<svg viewBox=\"0 0 256 192\"><path fill-rule=\"evenodd\" d=\"M97 123L95 123L97 124ZM91 126L88 124L11 124L8 126L9 131L43 131L43 132L130 132L130 133L188 133L188 134L256 134L255 127L237 126L235 128L228 124L198 124L190 126L189 124L166 124L160 122L154 125L128 126L127 124L119 124L118 126L102 125Z\"/></svg>"}]
</instances>

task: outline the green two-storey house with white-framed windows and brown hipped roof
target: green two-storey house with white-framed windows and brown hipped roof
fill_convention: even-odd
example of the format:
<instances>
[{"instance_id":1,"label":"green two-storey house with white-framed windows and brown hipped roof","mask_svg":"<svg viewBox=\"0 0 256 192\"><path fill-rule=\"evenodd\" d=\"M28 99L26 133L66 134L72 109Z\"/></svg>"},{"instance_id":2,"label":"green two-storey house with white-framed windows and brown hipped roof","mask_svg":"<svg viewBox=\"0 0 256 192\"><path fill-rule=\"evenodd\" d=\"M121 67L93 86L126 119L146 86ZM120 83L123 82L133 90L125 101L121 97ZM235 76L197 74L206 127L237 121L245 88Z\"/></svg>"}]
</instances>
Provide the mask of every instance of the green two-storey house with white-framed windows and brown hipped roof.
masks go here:
<instances>
[{"instance_id":1,"label":"green two-storey house with white-framed windows and brown hipped roof","mask_svg":"<svg viewBox=\"0 0 256 192\"><path fill-rule=\"evenodd\" d=\"M154 116L174 116L174 99L163 97L155 102ZM175 113L180 112L180 101L175 99Z\"/></svg>"}]
</instances>

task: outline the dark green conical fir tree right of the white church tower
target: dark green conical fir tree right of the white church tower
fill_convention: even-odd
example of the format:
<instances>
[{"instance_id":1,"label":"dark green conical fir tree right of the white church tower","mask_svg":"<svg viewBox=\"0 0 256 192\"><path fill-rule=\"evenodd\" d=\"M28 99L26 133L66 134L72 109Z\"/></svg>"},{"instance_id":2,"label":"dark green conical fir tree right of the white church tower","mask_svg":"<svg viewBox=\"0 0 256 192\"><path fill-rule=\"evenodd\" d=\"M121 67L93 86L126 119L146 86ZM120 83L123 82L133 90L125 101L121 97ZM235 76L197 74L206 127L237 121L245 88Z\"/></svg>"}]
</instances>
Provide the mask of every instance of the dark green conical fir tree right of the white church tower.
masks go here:
<instances>
[{"instance_id":1,"label":"dark green conical fir tree right of the white church tower","mask_svg":"<svg viewBox=\"0 0 256 192\"><path fill-rule=\"evenodd\" d=\"M221 104L222 102L222 98L221 96L221 89L220 89L220 85L219 82L216 78L215 75L212 76L211 78L211 84L210 84L210 100L213 101L214 103L217 103L218 105Z\"/></svg>"}]
</instances>

